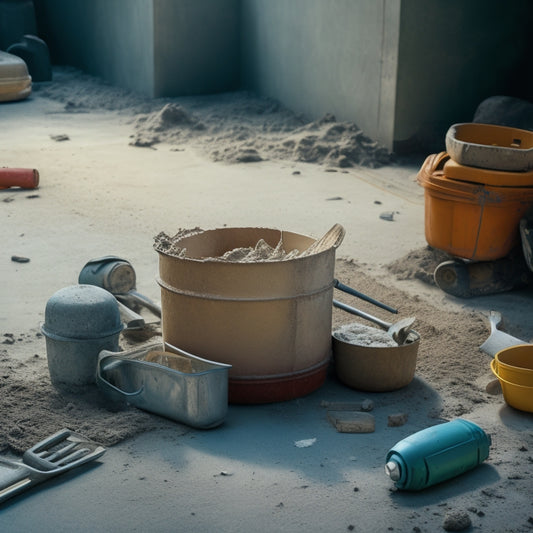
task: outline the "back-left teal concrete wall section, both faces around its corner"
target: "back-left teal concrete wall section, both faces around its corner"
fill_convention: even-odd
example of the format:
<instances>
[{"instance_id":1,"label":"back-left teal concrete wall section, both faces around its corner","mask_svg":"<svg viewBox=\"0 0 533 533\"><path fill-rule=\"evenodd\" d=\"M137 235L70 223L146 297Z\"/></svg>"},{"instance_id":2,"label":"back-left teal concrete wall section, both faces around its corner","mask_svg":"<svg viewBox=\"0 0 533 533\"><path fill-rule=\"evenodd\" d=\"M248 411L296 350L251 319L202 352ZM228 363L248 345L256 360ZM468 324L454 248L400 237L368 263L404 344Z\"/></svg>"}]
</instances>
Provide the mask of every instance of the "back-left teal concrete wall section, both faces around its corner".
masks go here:
<instances>
[{"instance_id":1,"label":"back-left teal concrete wall section, both faces around its corner","mask_svg":"<svg viewBox=\"0 0 533 533\"><path fill-rule=\"evenodd\" d=\"M52 61L150 97L239 85L239 0L34 0Z\"/></svg>"}]
</instances>

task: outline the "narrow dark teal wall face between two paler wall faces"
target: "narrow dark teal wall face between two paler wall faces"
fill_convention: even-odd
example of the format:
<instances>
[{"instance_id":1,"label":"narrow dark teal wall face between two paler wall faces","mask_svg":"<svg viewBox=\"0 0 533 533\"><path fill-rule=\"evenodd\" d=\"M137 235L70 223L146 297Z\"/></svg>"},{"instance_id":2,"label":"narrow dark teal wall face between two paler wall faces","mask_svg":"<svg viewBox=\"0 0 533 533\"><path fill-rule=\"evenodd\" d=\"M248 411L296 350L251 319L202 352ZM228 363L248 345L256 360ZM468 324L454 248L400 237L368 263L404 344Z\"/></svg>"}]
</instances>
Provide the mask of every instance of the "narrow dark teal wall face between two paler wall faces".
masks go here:
<instances>
[{"instance_id":1,"label":"narrow dark teal wall face between two paler wall faces","mask_svg":"<svg viewBox=\"0 0 533 533\"><path fill-rule=\"evenodd\" d=\"M239 86L239 0L154 1L154 96Z\"/></svg>"}]
</instances>

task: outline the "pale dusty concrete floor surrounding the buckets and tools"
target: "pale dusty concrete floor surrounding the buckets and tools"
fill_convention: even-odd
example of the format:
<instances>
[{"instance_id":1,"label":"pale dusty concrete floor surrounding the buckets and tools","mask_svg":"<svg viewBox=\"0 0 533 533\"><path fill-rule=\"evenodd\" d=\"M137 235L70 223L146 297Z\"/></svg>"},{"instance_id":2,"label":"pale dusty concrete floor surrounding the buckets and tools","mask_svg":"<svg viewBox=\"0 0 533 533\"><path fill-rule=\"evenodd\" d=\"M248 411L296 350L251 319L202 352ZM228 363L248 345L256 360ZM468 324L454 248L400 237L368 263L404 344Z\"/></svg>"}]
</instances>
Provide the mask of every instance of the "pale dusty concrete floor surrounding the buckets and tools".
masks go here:
<instances>
[{"instance_id":1,"label":"pale dusty concrete floor surrounding the buckets and tools","mask_svg":"<svg viewBox=\"0 0 533 533\"><path fill-rule=\"evenodd\" d=\"M131 146L135 117L123 110L72 111L68 103L39 92L0 107L1 164L41 173L36 191L0 191L0 333L11 335L2 344L8 366L0 393L15 372L30 381L32 373L47 379L44 339L37 336L46 301L76 283L88 259L111 253L129 259L139 291L158 300L152 244L161 230L253 225L319 237L334 222L347 230L337 256L353 261L339 263L348 281L364 283L357 288L367 294L393 298L402 312L427 315L428 342L449 331L454 353L447 356L453 364L446 369L447 381L454 383L441 386L431 367L438 363L445 369L446 356L432 365L427 349L415 380L395 393L354 391L332 370L325 385L304 398L230 406L225 424L211 431L156 419L157 429L111 446L83 472L4 504L4 531L429 532L442 530L453 513L467 516L470 530L533 529L532 415L506 406L501 395L485 393L492 375L487 356L474 353L483 336L479 327L472 339L468 333L457 338L450 330L472 316L479 326L495 309L510 333L530 340L532 295L523 291L458 301L419 280L391 275L388 264L425 246L423 191L413 181L416 165L326 172L324 165L291 160L216 162L185 142ZM68 139L54 140L58 135ZM393 220L380 218L384 212L394 213ZM13 262L13 255L30 262ZM439 324L439 310L444 324ZM346 317L336 313L334 321ZM463 348L471 366L461 364ZM468 388L469 381L475 387ZM337 433L321 407L323 401L368 397L376 418L370 434ZM389 427L388 415L397 412L408 413L407 423ZM488 461L419 493L393 490L384 474L388 449L455 416L491 433ZM20 425L25 427L23 419ZM304 439L316 441L307 448L295 446Z\"/></svg>"}]
</instances>

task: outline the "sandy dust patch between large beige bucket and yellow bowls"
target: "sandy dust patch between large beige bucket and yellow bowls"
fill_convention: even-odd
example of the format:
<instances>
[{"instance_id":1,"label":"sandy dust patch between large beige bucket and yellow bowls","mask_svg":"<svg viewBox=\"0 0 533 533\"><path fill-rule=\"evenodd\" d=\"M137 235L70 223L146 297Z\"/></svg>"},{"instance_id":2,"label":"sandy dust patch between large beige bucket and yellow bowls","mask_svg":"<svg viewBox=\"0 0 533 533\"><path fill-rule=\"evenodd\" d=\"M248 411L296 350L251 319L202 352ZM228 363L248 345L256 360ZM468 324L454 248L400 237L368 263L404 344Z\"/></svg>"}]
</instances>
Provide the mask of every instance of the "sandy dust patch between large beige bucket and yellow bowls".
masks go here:
<instances>
[{"instance_id":1,"label":"sandy dust patch between large beige bucket and yellow bowls","mask_svg":"<svg viewBox=\"0 0 533 533\"><path fill-rule=\"evenodd\" d=\"M398 318L416 315L415 329L421 338L416 376L431 384L441 397L441 405L433 407L427 413L429 417L451 419L468 416L469 412L484 403L493 404L495 409L497 405L501 405L501 396L491 396L485 390L487 383L492 381L492 374L490 361L479 350L479 346L490 332L487 320L481 313L457 313L434 306L416 295L376 281L366 273L364 265L355 261L337 260L335 266L335 276L338 279L372 298L396 307ZM335 297L354 305L351 296L339 293ZM363 300L357 300L356 307L390 321L389 313ZM353 318L349 313L333 309L334 327L353 323ZM359 322L365 323L363 319ZM407 398L405 400L406 404L402 408L407 411L415 408L416 401L411 403Z\"/></svg>"}]
</instances>

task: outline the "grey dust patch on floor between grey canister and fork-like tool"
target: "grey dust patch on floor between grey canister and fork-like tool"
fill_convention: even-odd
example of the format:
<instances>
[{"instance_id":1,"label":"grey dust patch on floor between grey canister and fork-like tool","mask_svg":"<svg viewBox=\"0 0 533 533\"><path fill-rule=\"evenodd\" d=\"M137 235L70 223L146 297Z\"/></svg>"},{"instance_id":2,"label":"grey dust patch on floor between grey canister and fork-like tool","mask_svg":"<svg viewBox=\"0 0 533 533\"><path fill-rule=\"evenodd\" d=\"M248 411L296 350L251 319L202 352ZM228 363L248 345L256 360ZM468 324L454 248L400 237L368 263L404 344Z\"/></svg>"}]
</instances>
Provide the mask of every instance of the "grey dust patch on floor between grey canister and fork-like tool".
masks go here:
<instances>
[{"instance_id":1,"label":"grey dust patch on floor between grey canister and fork-like tool","mask_svg":"<svg viewBox=\"0 0 533 533\"><path fill-rule=\"evenodd\" d=\"M188 429L133 407L111 405L96 385L56 388L50 381L46 345L38 331L4 336L0 344L0 453L20 455L61 428L112 446L138 433ZM0 342L2 342L0 340ZM123 349L136 345L121 335Z\"/></svg>"}]
</instances>

